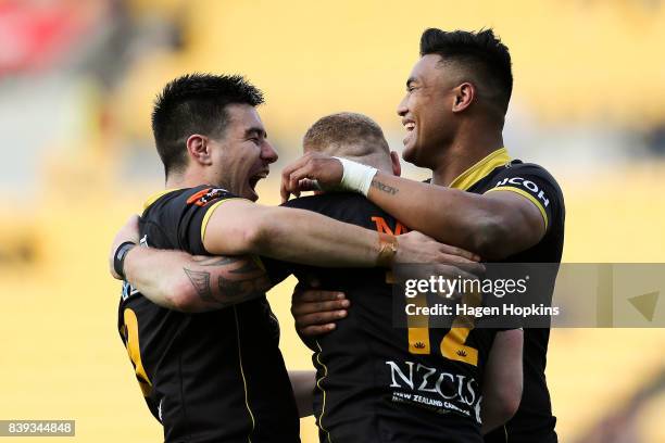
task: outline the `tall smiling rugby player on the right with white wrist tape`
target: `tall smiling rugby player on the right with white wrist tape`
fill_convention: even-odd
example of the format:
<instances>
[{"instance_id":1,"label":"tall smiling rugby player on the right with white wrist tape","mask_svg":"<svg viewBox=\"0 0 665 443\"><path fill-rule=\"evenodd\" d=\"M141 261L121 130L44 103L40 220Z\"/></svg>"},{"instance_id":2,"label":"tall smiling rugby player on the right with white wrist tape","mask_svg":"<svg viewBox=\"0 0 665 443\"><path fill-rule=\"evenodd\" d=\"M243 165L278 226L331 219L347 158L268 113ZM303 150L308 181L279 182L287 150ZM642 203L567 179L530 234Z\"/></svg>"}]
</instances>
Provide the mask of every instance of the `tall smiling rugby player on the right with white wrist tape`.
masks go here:
<instances>
[{"instance_id":1,"label":"tall smiling rugby player on the right with white wrist tape","mask_svg":"<svg viewBox=\"0 0 665 443\"><path fill-rule=\"evenodd\" d=\"M512 160L503 148L512 87L509 50L491 29L427 29L398 114L407 131L404 160L431 169L431 180L310 153L284 169L283 198L312 189L316 180L322 189L361 192L406 226L493 262L557 264L564 241L562 191L544 168ZM298 307L296 301L294 311L322 311L303 308L308 303ZM315 317L300 324L311 326ZM519 408L486 442L557 441L544 375L549 333L547 328L525 330Z\"/></svg>"}]
</instances>

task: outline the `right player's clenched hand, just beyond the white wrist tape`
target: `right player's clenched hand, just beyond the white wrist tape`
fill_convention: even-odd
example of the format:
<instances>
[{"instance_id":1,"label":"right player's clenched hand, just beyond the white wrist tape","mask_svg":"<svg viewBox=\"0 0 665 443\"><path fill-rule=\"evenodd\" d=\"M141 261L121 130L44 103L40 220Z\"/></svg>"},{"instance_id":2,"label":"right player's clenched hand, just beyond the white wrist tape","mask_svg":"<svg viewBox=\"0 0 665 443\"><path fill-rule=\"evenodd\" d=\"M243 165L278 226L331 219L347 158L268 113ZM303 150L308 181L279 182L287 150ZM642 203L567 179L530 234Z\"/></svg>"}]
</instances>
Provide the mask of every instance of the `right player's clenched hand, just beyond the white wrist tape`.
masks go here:
<instances>
[{"instance_id":1,"label":"right player's clenched hand, just beyond the white wrist tape","mask_svg":"<svg viewBox=\"0 0 665 443\"><path fill-rule=\"evenodd\" d=\"M281 172L281 201L288 201L291 193L300 197L302 191L332 189L341 182L343 175L344 168L339 160L308 152Z\"/></svg>"}]
</instances>

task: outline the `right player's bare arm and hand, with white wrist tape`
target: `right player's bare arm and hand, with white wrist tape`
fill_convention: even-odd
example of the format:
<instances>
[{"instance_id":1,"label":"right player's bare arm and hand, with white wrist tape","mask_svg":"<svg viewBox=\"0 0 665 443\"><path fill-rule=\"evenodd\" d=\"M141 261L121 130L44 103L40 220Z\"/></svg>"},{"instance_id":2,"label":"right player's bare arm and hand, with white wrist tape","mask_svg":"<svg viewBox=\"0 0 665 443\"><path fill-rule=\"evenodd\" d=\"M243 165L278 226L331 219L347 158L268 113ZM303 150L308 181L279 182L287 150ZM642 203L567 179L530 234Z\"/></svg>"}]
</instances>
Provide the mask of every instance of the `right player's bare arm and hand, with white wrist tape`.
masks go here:
<instances>
[{"instance_id":1,"label":"right player's bare arm and hand, with white wrist tape","mask_svg":"<svg viewBox=\"0 0 665 443\"><path fill-rule=\"evenodd\" d=\"M525 192L474 194L382 172L372 172L372 176L365 179L350 180L347 177L349 170L362 172L355 167L350 169L335 157L308 154L285 168L283 199L287 199L289 193L308 190L311 180L316 180L324 189L339 189L341 186L346 190L365 193L372 202L412 229L474 251L488 260L524 251L538 243L545 233L547 215Z\"/></svg>"}]
</instances>

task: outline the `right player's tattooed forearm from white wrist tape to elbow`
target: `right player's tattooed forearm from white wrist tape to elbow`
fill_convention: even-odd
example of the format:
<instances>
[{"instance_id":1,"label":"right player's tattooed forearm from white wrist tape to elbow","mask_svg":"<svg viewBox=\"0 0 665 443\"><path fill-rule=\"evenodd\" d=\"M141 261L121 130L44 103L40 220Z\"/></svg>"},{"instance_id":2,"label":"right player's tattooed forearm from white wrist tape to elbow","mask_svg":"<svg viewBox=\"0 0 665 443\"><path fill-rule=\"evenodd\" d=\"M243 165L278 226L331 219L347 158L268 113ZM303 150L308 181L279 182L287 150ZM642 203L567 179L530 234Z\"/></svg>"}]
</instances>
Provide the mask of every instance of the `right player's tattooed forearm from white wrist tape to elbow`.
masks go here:
<instances>
[{"instance_id":1,"label":"right player's tattooed forearm from white wrist tape to elbow","mask_svg":"<svg viewBox=\"0 0 665 443\"><path fill-rule=\"evenodd\" d=\"M503 207L482 195L379 172L367 198L410 228L486 258L504 255L513 240Z\"/></svg>"}]
</instances>

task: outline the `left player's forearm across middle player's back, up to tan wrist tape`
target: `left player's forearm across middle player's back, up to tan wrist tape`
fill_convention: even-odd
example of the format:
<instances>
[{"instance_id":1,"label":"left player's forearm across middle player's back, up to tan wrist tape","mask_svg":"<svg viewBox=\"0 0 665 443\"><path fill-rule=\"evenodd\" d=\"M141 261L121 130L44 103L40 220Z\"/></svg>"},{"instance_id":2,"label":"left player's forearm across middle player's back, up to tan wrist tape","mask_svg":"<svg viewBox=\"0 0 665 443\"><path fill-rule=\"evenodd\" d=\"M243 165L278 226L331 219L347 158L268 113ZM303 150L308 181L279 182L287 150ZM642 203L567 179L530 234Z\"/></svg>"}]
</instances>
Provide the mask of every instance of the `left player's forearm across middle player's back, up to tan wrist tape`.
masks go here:
<instances>
[{"instance_id":1,"label":"left player's forearm across middle player's back, up to tan wrist tape","mask_svg":"<svg viewBox=\"0 0 665 443\"><path fill-rule=\"evenodd\" d=\"M323 215L285 207L262 214L256 254L287 262L327 267L374 267L378 235Z\"/></svg>"}]
</instances>

